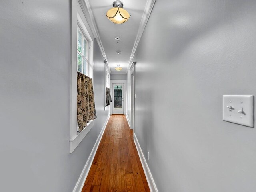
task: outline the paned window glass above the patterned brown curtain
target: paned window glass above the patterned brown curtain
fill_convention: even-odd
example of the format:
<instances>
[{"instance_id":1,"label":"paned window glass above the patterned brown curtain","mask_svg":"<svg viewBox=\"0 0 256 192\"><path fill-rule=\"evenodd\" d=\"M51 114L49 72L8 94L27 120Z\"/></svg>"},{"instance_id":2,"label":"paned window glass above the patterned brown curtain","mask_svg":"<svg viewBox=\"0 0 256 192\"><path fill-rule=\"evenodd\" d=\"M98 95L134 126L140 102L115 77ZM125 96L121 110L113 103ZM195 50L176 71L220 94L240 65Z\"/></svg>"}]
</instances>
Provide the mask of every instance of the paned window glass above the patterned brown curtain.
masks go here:
<instances>
[{"instance_id":1,"label":"paned window glass above the patterned brown curtain","mask_svg":"<svg viewBox=\"0 0 256 192\"><path fill-rule=\"evenodd\" d=\"M82 33L80 27L77 27L77 71L87 74L88 71L88 41Z\"/></svg>"}]
</instances>

